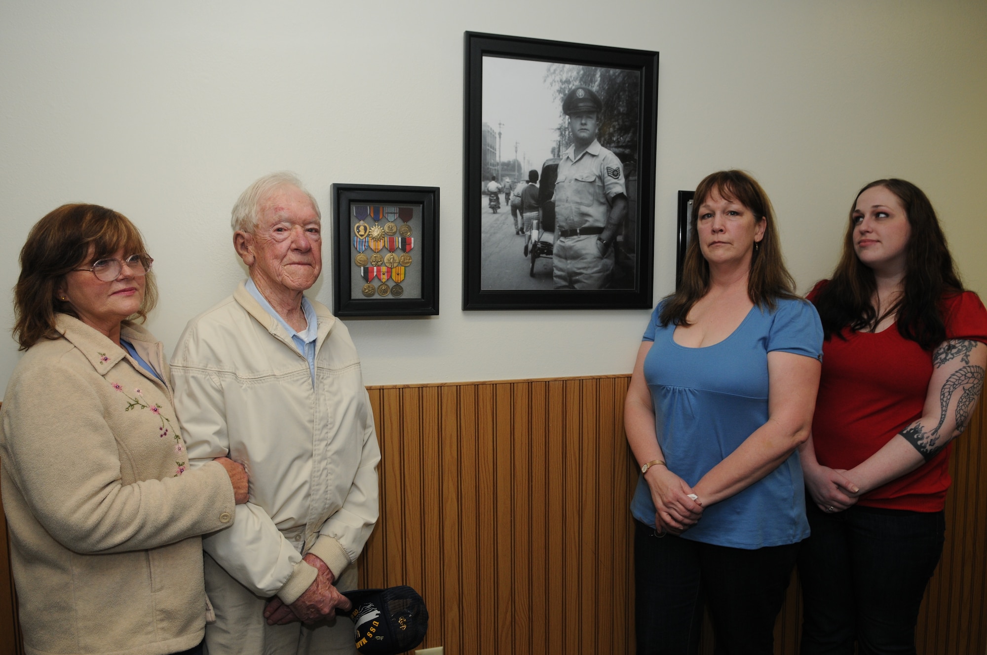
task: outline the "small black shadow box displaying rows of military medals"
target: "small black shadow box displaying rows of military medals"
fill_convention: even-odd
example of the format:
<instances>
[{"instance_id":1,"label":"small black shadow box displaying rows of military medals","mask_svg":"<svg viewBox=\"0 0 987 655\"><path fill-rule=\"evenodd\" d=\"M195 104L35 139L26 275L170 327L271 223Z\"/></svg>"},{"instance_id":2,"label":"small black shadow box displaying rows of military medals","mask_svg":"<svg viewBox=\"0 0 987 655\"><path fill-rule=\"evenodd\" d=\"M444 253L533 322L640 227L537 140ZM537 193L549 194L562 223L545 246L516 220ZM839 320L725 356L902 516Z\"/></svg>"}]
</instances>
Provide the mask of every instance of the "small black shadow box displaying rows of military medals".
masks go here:
<instances>
[{"instance_id":1,"label":"small black shadow box displaying rows of military medals","mask_svg":"<svg viewBox=\"0 0 987 655\"><path fill-rule=\"evenodd\" d=\"M395 186L380 184L333 184L333 313L339 317L400 317L438 315L438 187ZM378 212L373 210L377 209ZM391 211L393 209L393 212ZM362 212L362 213L361 213ZM394 216L390 216L394 213ZM377 217L374 220L374 216ZM408 218L406 218L408 216ZM383 244L369 234L362 242L354 227L362 221L380 227L394 223L395 234L385 233ZM362 230L362 228L361 228ZM405 232L409 232L405 236ZM402 239L405 241L397 241ZM411 242L407 240L411 239ZM391 240L395 240L393 243ZM392 249L392 245L394 248ZM378 250L372 250L376 246ZM359 250L362 248L362 250ZM407 250L405 250L407 249ZM358 255L411 257L407 266L359 265ZM371 274L366 268L376 268ZM395 271L401 270L402 279ZM386 279L381 279L386 269ZM392 277L392 274L395 277ZM365 276L368 276L369 279ZM392 284L388 284L391 282ZM364 296L361 290L374 284L375 292ZM388 287L386 295L376 289ZM402 288L401 297L394 293ZM405 287L409 288L406 290ZM355 290L355 291L354 291Z\"/></svg>"}]
</instances>

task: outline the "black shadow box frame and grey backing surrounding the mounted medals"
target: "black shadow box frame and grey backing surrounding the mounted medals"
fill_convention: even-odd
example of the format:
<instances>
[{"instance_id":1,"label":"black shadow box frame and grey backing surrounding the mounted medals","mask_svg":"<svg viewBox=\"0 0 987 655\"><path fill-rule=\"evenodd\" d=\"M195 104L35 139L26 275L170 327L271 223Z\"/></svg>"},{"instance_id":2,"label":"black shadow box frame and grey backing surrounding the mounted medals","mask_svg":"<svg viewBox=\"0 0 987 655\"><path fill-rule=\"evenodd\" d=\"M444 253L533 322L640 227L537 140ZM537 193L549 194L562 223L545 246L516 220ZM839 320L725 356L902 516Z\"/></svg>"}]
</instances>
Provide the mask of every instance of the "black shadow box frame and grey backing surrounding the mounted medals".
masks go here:
<instances>
[{"instance_id":1,"label":"black shadow box frame and grey backing surrounding the mounted medals","mask_svg":"<svg viewBox=\"0 0 987 655\"><path fill-rule=\"evenodd\" d=\"M338 317L438 316L439 234L437 186L333 184L333 314ZM421 263L419 298L354 297L352 205L420 205L421 225L412 251ZM410 253L411 254L411 253Z\"/></svg>"}]
</instances>

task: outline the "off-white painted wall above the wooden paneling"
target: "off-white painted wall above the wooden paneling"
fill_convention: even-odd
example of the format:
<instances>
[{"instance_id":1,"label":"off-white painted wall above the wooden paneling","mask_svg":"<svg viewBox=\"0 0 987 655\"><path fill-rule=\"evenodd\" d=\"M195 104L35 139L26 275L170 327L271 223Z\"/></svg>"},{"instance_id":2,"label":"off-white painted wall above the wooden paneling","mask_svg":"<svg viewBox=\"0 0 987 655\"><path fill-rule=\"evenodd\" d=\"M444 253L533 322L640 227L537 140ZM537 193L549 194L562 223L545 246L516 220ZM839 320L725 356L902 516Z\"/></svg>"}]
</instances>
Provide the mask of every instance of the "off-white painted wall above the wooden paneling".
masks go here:
<instances>
[{"instance_id":1,"label":"off-white painted wall above the wooden paneling","mask_svg":"<svg viewBox=\"0 0 987 655\"><path fill-rule=\"evenodd\" d=\"M333 182L441 187L441 315L348 322L368 384L629 371L645 310L460 309L467 30L661 53L655 299L674 283L676 191L726 167L768 189L802 290L857 189L897 176L987 292L983 2L0 0L0 326L31 225L96 202L147 237L170 350L243 276L237 194L291 169L327 219ZM331 305L325 277L315 295ZM17 358L0 338L0 384Z\"/></svg>"}]
</instances>

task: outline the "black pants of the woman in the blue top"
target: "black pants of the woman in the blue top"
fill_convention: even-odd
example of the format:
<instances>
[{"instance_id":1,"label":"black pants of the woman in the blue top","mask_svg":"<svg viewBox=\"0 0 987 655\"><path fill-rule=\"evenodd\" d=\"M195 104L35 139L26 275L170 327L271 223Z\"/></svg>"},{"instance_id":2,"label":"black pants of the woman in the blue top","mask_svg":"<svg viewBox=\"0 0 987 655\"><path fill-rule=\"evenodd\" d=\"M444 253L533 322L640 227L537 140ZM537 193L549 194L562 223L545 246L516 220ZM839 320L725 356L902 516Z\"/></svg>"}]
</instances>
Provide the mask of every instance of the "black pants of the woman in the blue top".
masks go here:
<instances>
[{"instance_id":1,"label":"black pants of the woman in the blue top","mask_svg":"<svg viewBox=\"0 0 987 655\"><path fill-rule=\"evenodd\" d=\"M645 524L635 524L639 655L697 653L704 604L717 655L771 655L797 544L713 546L672 535L657 538Z\"/></svg>"}]
</instances>

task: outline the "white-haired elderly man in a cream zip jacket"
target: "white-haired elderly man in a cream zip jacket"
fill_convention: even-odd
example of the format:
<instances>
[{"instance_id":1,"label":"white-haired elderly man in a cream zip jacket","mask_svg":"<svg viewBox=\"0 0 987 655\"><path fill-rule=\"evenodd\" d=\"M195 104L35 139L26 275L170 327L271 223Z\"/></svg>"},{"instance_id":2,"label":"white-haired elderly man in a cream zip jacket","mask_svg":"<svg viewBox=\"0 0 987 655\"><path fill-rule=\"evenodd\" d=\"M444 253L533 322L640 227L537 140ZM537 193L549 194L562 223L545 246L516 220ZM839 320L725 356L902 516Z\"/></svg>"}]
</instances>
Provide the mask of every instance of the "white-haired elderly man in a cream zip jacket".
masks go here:
<instances>
[{"instance_id":1,"label":"white-haired elderly man in a cream zip jacket","mask_svg":"<svg viewBox=\"0 0 987 655\"><path fill-rule=\"evenodd\" d=\"M189 322L172 361L192 466L228 456L251 477L233 526L203 540L216 614L205 644L355 653L335 609L377 521L380 451L349 332L303 295L322 270L319 207L273 174L243 192L232 223L250 277Z\"/></svg>"}]
</instances>

